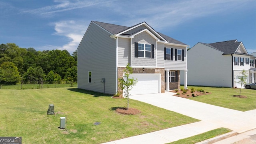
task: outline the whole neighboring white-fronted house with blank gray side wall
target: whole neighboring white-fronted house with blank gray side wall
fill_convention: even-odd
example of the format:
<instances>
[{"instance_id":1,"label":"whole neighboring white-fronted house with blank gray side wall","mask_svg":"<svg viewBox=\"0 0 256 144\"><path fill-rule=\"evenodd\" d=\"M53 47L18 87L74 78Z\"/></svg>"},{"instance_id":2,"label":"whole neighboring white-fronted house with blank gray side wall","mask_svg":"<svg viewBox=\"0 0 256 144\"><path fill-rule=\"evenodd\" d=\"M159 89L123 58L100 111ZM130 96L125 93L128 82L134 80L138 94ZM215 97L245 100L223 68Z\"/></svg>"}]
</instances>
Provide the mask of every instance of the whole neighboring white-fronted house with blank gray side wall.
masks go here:
<instances>
[{"instance_id":1,"label":"whole neighboring white-fronted house with blank gray side wall","mask_svg":"<svg viewBox=\"0 0 256 144\"><path fill-rule=\"evenodd\" d=\"M249 69L255 65L251 64L252 57L237 40L199 42L188 50L188 85L240 87L238 76L242 70L249 82Z\"/></svg>"}]
</instances>

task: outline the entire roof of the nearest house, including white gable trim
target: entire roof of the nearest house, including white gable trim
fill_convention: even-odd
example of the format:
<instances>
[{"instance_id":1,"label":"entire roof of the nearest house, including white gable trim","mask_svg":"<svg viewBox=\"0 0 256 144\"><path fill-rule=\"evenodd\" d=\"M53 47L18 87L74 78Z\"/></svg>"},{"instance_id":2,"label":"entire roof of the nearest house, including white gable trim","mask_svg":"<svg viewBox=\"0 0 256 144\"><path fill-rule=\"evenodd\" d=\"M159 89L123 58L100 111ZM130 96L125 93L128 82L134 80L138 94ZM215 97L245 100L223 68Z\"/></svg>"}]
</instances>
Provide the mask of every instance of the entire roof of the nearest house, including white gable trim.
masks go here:
<instances>
[{"instance_id":1,"label":"entire roof of the nearest house, including white gable trim","mask_svg":"<svg viewBox=\"0 0 256 144\"><path fill-rule=\"evenodd\" d=\"M131 27L120 26L116 24L108 24L104 22L96 22L96 21L92 21L92 22L98 24L99 26L101 26L111 34L120 34L122 36L132 36L133 34L136 34L142 30L148 29L150 32L155 33L156 37L159 38L160 40L173 43L173 44L187 45L187 44L184 44L183 42L175 40L174 38L161 34L160 32L156 32L153 28L151 28L148 24L146 24L146 22L142 22ZM142 26L142 24L145 24L146 26Z\"/></svg>"}]
</instances>

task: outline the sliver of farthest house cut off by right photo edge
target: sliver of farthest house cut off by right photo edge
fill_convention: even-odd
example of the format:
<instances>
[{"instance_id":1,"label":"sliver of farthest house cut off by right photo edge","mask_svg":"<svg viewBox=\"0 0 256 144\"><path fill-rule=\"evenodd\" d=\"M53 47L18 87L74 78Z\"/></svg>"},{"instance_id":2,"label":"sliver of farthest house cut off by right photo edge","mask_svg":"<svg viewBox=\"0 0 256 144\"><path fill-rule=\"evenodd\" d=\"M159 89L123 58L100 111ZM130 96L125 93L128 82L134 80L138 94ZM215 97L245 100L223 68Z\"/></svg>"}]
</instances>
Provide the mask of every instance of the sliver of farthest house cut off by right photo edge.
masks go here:
<instances>
[{"instance_id":1,"label":"sliver of farthest house cut off by right photo edge","mask_svg":"<svg viewBox=\"0 0 256 144\"><path fill-rule=\"evenodd\" d=\"M255 79L256 79L256 52L253 52L250 54L251 58L250 58L250 70L249 70L249 83L255 83Z\"/></svg>"}]
</instances>

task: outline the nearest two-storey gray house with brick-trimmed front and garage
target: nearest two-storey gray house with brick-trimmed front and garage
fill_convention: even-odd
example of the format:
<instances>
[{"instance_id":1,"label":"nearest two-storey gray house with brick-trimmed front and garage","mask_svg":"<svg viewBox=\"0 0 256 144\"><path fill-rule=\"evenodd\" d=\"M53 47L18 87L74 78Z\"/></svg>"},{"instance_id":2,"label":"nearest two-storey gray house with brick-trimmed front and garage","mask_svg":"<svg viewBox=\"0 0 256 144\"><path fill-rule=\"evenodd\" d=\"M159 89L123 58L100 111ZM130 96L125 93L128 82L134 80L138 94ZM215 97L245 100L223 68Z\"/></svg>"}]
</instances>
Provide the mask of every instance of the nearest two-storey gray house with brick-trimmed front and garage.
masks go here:
<instances>
[{"instance_id":1,"label":"nearest two-storey gray house with brick-trimmed front and garage","mask_svg":"<svg viewBox=\"0 0 256 144\"><path fill-rule=\"evenodd\" d=\"M77 49L78 88L114 94L129 63L130 77L138 79L130 94L177 89L180 71L187 70L187 47L146 22L126 27L92 21Z\"/></svg>"}]
</instances>

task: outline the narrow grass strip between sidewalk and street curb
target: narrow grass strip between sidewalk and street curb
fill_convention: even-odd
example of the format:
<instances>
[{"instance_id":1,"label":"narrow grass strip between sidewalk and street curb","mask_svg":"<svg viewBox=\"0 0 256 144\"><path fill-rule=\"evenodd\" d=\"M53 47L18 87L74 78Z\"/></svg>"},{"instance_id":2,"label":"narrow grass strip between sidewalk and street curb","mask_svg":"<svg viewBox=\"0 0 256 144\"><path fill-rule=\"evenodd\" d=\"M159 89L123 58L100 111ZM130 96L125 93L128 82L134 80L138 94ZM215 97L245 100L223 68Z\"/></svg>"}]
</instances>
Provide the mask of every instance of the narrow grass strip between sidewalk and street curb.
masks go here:
<instances>
[{"instance_id":1,"label":"narrow grass strip between sidewalk and street curb","mask_svg":"<svg viewBox=\"0 0 256 144\"><path fill-rule=\"evenodd\" d=\"M204 133L198 134L196 136L191 136L189 138L184 138L182 140L171 142L169 144L195 144L198 142L202 142L204 140L208 140L210 138L214 138L216 136L220 136L222 134L226 134L231 131L232 130L230 130L228 128L217 128L215 130L210 130L208 132L204 132Z\"/></svg>"}]
</instances>

